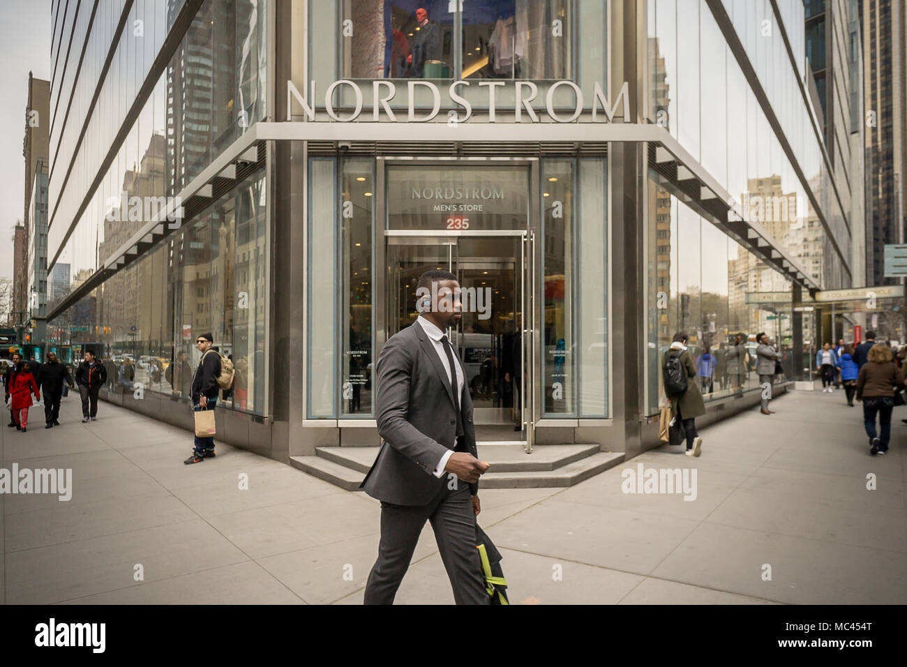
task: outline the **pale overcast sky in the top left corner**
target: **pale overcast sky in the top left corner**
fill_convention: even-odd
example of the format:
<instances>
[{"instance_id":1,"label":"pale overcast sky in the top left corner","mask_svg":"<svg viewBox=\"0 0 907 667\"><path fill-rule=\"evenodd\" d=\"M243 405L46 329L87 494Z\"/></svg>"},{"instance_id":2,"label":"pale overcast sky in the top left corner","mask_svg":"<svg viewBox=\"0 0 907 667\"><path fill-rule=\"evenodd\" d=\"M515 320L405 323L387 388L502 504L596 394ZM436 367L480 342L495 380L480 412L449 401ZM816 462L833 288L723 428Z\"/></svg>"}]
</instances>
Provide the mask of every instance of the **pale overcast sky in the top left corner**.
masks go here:
<instances>
[{"instance_id":1,"label":"pale overcast sky in the top left corner","mask_svg":"<svg viewBox=\"0 0 907 667\"><path fill-rule=\"evenodd\" d=\"M15 11L10 11L14 4ZM37 79L51 78L51 0L15 0L4 9L0 21L0 278L12 278L13 228L25 208L22 140L28 72Z\"/></svg>"}]
</instances>

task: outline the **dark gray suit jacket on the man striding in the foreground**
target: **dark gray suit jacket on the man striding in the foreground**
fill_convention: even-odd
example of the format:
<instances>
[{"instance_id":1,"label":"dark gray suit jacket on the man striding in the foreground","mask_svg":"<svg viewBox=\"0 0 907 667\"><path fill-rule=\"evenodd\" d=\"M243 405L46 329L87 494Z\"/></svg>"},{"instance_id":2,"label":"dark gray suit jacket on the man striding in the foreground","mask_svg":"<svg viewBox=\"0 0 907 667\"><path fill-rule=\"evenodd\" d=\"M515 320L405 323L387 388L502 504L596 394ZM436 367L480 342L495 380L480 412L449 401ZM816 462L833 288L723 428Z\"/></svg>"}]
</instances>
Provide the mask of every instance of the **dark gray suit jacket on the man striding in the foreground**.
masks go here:
<instances>
[{"instance_id":1,"label":"dark gray suit jacket on the man striding in the foreground","mask_svg":"<svg viewBox=\"0 0 907 667\"><path fill-rule=\"evenodd\" d=\"M456 413L444 365L418 322L387 340L378 356L375 383L382 443L361 488L385 503L428 505L448 483L446 474L439 479L433 473L444 452L455 445ZM460 405L463 445L478 457L473 399L465 383ZM479 492L478 484L469 487L472 495Z\"/></svg>"}]
</instances>

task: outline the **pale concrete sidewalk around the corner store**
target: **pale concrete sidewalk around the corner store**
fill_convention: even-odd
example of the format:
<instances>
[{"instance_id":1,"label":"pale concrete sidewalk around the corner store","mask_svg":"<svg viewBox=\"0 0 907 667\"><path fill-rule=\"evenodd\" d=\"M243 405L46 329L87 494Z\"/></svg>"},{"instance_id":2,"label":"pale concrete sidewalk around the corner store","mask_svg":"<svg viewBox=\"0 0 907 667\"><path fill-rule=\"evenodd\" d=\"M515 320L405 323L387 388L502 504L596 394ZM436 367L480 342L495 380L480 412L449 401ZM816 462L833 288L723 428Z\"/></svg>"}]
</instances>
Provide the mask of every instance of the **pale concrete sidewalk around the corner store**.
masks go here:
<instances>
[{"instance_id":1,"label":"pale concrete sidewalk around the corner store","mask_svg":"<svg viewBox=\"0 0 907 667\"><path fill-rule=\"evenodd\" d=\"M842 392L772 407L703 429L699 458L665 446L571 488L481 492L512 602L907 603L907 410L873 458ZM73 469L68 502L0 495L0 601L362 602L376 501L226 445L184 466L189 433L105 403L81 424L75 394L61 413L0 436L0 467ZM623 493L639 464L695 469L696 499ZM428 525L397 602L453 603Z\"/></svg>"}]
</instances>

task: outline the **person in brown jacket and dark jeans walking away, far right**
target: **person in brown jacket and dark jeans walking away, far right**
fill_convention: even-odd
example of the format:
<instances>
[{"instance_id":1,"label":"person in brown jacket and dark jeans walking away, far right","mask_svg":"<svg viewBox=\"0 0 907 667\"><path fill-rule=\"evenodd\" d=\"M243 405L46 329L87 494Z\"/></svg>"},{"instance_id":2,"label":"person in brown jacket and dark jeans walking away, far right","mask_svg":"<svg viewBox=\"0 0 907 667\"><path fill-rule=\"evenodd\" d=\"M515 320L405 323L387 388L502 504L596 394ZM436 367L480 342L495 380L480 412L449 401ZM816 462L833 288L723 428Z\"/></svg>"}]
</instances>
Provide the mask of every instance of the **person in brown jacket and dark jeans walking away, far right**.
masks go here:
<instances>
[{"instance_id":1,"label":"person in brown jacket and dark jeans walking away, far right","mask_svg":"<svg viewBox=\"0 0 907 667\"><path fill-rule=\"evenodd\" d=\"M892 360L892 348L883 343L873 345L856 379L856 399L863 401L863 423L869 436L869 453L884 454L892 433L894 389L903 385L903 373ZM879 416L881 433L876 436L875 416Z\"/></svg>"}]
</instances>

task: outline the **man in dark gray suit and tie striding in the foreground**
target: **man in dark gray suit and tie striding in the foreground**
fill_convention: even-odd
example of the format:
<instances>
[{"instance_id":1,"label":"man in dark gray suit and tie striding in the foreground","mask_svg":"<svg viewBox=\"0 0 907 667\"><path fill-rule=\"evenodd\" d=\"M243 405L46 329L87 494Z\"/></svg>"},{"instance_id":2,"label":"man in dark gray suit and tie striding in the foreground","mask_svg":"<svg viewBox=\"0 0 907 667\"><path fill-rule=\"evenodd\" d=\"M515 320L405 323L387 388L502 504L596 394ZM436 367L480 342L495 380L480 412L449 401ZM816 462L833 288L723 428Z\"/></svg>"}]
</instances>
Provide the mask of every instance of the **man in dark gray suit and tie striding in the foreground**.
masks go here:
<instances>
[{"instance_id":1,"label":"man in dark gray suit and tie striding in the foreground","mask_svg":"<svg viewBox=\"0 0 907 667\"><path fill-rule=\"evenodd\" d=\"M362 487L381 501L381 542L365 603L394 602L428 520L453 599L488 604L475 548L478 480L488 464L477 458L463 364L444 335L462 317L456 276L426 271L416 299L423 314L387 340L377 361L376 413L383 443Z\"/></svg>"}]
</instances>

